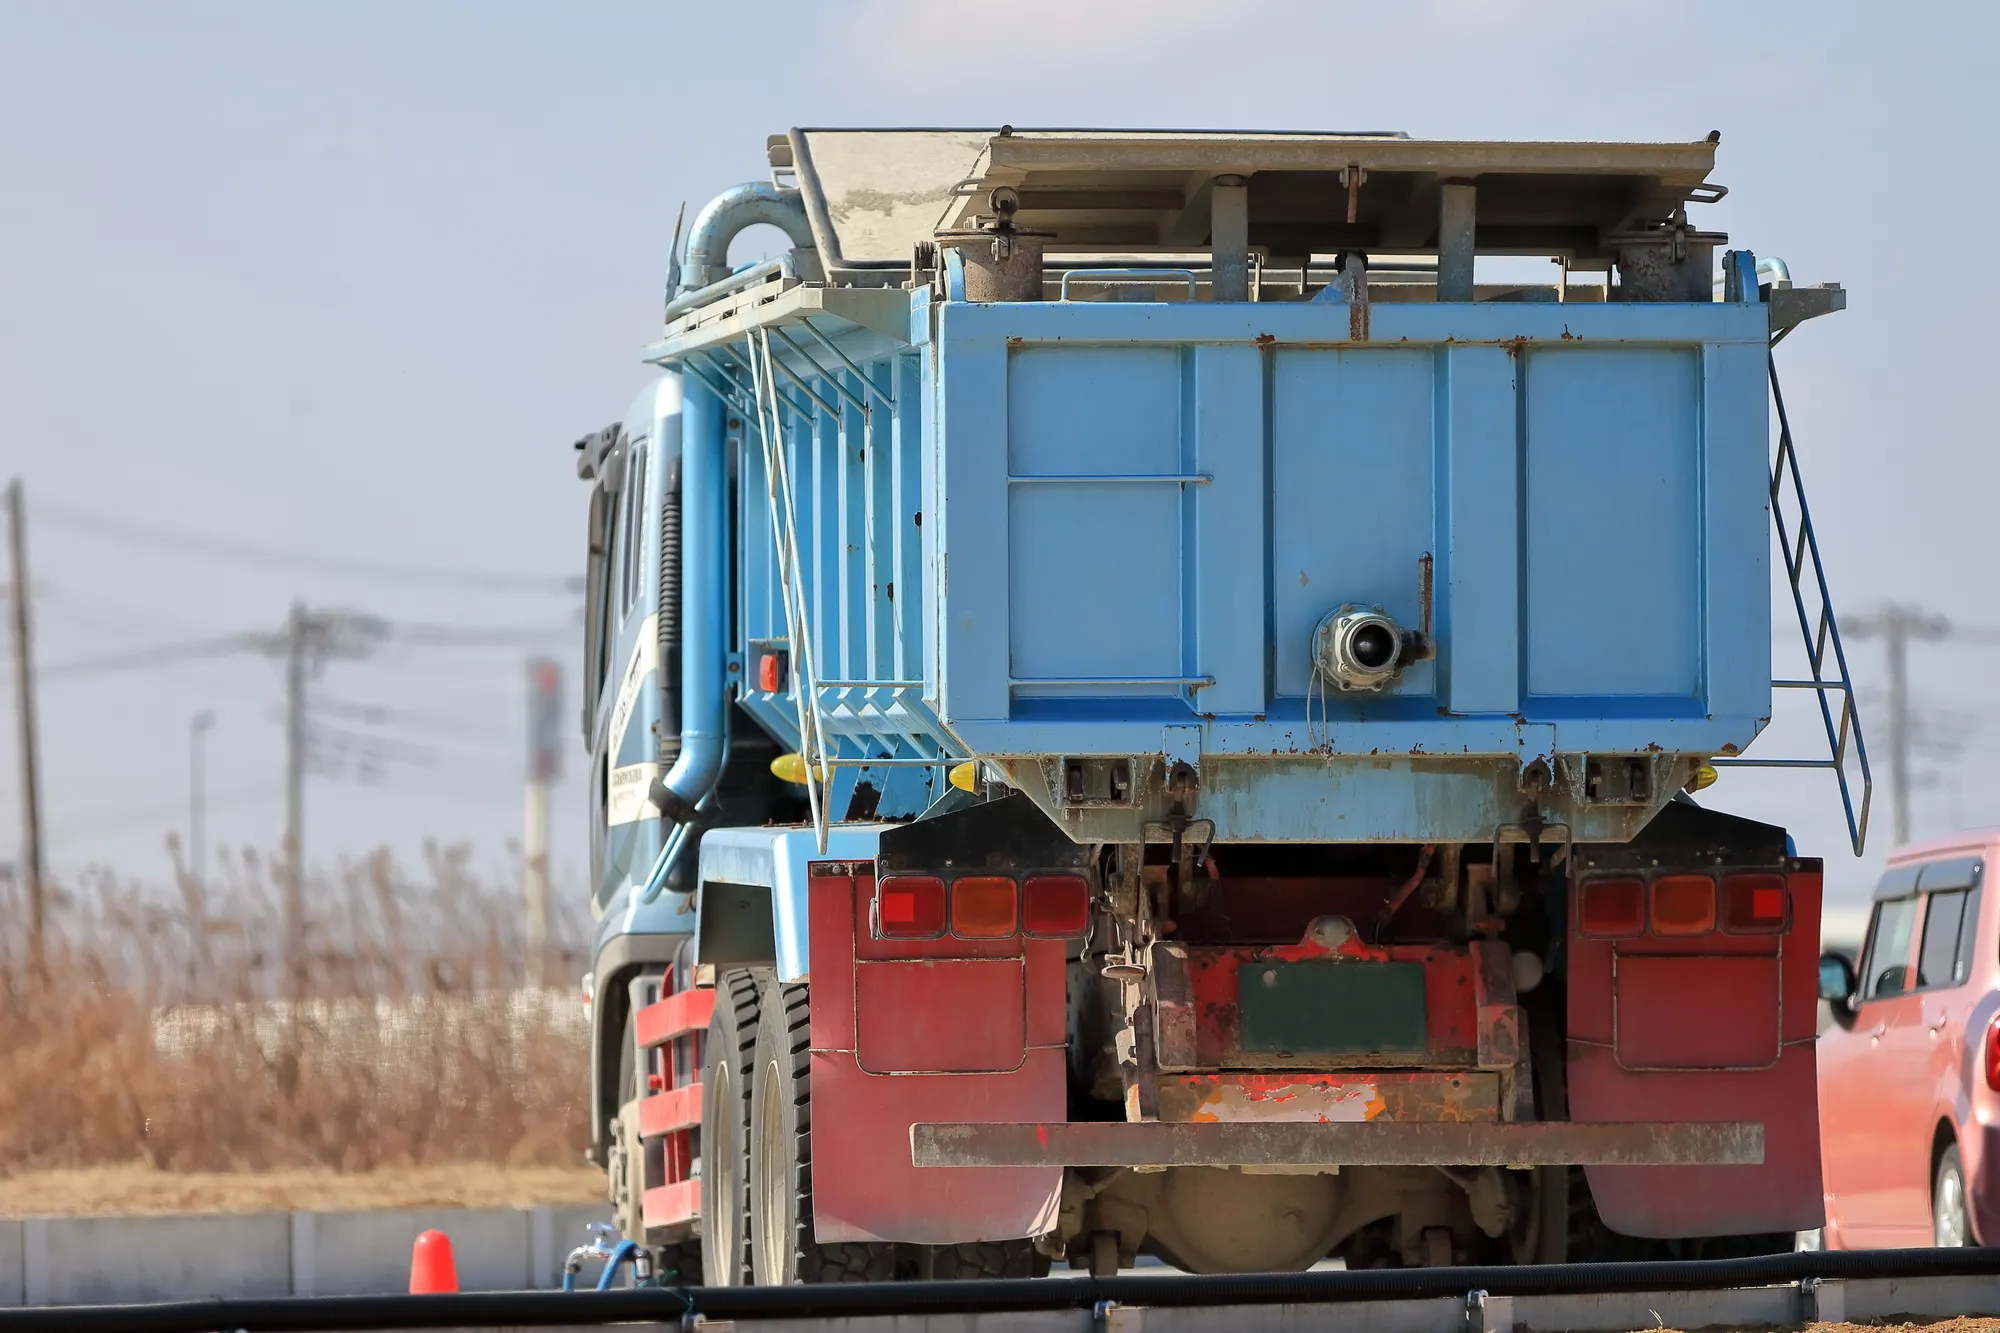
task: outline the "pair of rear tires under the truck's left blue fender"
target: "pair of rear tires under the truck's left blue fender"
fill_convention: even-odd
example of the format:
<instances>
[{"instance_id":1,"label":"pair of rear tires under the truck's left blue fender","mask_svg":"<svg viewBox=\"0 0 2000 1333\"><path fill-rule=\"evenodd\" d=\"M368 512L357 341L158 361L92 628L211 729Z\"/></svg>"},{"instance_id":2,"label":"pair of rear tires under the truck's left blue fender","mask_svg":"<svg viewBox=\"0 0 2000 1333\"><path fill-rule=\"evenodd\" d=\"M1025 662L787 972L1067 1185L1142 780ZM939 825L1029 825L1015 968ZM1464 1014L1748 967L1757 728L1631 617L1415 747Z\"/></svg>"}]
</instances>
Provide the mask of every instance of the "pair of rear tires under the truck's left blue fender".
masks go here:
<instances>
[{"instance_id":1,"label":"pair of rear tires under the truck's left blue fender","mask_svg":"<svg viewBox=\"0 0 2000 1333\"><path fill-rule=\"evenodd\" d=\"M812 1023L804 985L724 973L702 1079L702 1267L708 1285L1034 1277L1030 1241L818 1243L812 1235Z\"/></svg>"}]
</instances>

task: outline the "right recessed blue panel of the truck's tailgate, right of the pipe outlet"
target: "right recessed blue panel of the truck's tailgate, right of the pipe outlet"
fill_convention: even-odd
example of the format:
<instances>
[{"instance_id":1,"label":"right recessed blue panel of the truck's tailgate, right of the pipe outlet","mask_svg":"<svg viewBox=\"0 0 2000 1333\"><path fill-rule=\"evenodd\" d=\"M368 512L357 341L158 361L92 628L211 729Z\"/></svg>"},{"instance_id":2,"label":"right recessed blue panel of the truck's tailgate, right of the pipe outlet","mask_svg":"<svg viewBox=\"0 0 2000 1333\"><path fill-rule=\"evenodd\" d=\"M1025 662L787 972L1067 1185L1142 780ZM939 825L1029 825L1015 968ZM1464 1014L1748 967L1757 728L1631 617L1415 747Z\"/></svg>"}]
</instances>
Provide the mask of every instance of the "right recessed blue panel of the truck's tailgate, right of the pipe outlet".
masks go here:
<instances>
[{"instance_id":1,"label":"right recessed blue panel of the truck's tailgate, right of the pipe outlet","mask_svg":"<svg viewBox=\"0 0 2000 1333\"><path fill-rule=\"evenodd\" d=\"M1530 695L1694 695L1696 366L1686 348L1522 354Z\"/></svg>"}]
</instances>

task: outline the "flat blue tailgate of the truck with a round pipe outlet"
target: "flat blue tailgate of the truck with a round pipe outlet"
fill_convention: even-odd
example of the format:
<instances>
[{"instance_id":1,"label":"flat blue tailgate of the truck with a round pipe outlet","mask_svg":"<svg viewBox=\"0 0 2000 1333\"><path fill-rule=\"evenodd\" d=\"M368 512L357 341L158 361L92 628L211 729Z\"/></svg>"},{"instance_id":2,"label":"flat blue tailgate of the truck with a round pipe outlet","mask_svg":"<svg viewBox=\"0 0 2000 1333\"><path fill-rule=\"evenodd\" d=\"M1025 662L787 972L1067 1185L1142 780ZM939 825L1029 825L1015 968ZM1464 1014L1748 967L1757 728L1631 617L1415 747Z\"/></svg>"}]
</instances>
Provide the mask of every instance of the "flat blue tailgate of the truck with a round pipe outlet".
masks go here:
<instances>
[{"instance_id":1,"label":"flat blue tailgate of the truck with a round pipe outlet","mask_svg":"<svg viewBox=\"0 0 2000 1333\"><path fill-rule=\"evenodd\" d=\"M1202 713L1228 719L1204 725L1208 755L1316 747L1334 755L1386 753L1392 733L1408 731L1396 739L1396 753L1422 747L1432 755L1512 757L1522 749L1512 731L1516 713L1560 725L1564 751L1712 753L1748 743L1768 713L1768 677L1748 656L1704 656L1704 618L1714 614L1708 594L1716 590L1704 570L1738 562L1764 568L1762 520L1746 522L1742 512L1744 502L1762 504L1762 482L1750 478L1764 466L1764 406L1760 396L1728 404L1704 398L1698 366L1720 354L1746 362L1762 356L1762 310L1390 304L1378 306L1372 320L1374 344L1362 348L1348 344L1340 306L946 304L938 324L946 416L934 448L954 478L940 496L940 522L952 534L944 614L954 626L944 642L940 701L954 733L994 755L1158 753L1152 737L1160 721L1172 723L1168 699L1132 699L1120 715L1114 701L1084 709L1078 699L1062 711L1046 699L1058 691L1016 689L1010 705L996 707L990 660L1000 642L1054 654L1064 634L1088 632L1092 616L1116 616L1118 644L1076 652L1110 654L1090 660L1098 669L1162 671L1168 640L1148 636L1146 624L1166 614L1170 588L1184 596L1192 588L1192 604L1178 614L1202 626L1214 616L1240 616L1240 604L1264 586L1242 568L1210 566L1204 578L1204 560L1224 558L1222 534L1234 532L1238 544L1266 544L1272 624L1256 650L1268 654L1276 699L1264 701L1262 723L1240 717L1246 705L1188 709L1186 723ZM1010 344L1012 374L1002 394L994 362ZM1212 430L1204 418L1196 430L1182 424L1182 466L1216 478L1188 486L1192 532L1184 526L1170 552L1164 542L1130 540L1132 532L1172 530L1164 506L1120 510L1094 500L1084 508L1060 498L1022 506L1010 496L1012 548L1004 558L1016 584L1012 622L1000 640L990 610L974 608L984 632L972 632L972 620L960 618L960 592L970 582L984 600L1002 558L992 548L990 512L972 510L994 504L990 462L1002 442L1014 454L1040 448L1028 454L1036 466L1044 458L1068 460L1074 470L1090 466L1080 458L1166 464L1172 408L1186 410L1190 396L1202 404L1210 394L1200 372L1188 368L1188 348L1200 348L1192 354L1196 366L1210 354L1256 356L1270 392L1268 426L1260 404L1240 390L1234 434ZM1178 392L1168 382L1170 364L1178 368ZM1222 400L1214 398L1216 410ZM1114 416L1100 426L1092 414L1104 410ZM1720 464L1714 414L1746 422L1720 446L1728 454ZM1198 440L1192 452L1186 436ZM1230 446L1220 444L1224 438ZM1258 486L1260 466L1270 468L1268 528L1240 498L1220 498L1224 484ZM1716 478L1716 466L1726 468L1726 482ZM1706 484L1730 488L1728 520L1718 520L1704 500ZM1224 512L1228 528L1204 526L1208 514L1220 520ZM982 540L956 540L968 518ZM1092 540L1108 528L1128 538L1134 568L1116 590L1090 570L1022 550L1074 542L1078 524L1094 524L1086 528ZM1206 532L1220 546L1212 548ZM1300 699L1312 624L1342 600L1380 602L1414 624L1416 556L1424 552L1436 566L1440 679L1426 681L1420 664L1406 673L1402 691L1436 691L1452 715L1488 715L1504 723L1504 735L1468 733L1440 717L1436 703L1368 699L1346 701L1346 715L1336 705L1334 721L1352 725L1312 737L1302 727ZM1168 582L1136 568L1154 554L1172 554L1196 572L1184 578L1186 570L1176 568ZM1032 570L1040 596L1026 596L1024 570ZM1350 586L1334 590L1342 582ZM1232 606L1208 606L1206 590ZM1768 638L1762 598L1754 578L1732 584L1724 598L1738 624L1732 640ZM1040 622L1020 624L1026 618ZM1742 628L1752 620L1760 626L1754 634ZM1192 644L1178 662L1186 677L1214 677L1206 689L1242 681L1242 634L1196 630L1184 642ZM1030 660L1040 669L1052 656ZM960 697L968 662L978 673L972 707ZM1728 677L1728 693L1718 691L1718 675ZM1256 701L1248 709L1256 711ZM988 719L1012 725L992 727Z\"/></svg>"}]
</instances>

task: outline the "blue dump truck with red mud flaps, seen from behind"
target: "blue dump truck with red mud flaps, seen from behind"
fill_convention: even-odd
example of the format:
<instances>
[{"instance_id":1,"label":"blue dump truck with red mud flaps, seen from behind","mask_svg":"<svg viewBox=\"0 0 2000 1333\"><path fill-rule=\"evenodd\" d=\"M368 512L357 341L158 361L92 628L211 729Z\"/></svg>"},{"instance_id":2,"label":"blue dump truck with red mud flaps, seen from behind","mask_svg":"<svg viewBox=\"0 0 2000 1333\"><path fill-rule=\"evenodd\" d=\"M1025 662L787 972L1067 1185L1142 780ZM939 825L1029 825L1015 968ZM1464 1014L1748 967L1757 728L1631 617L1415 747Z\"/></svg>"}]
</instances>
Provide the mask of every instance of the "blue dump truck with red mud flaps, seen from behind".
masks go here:
<instances>
[{"instance_id":1,"label":"blue dump truck with red mud flaps, seen from behind","mask_svg":"<svg viewBox=\"0 0 2000 1333\"><path fill-rule=\"evenodd\" d=\"M1772 360L1844 298L1692 220L1716 142L792 130L676 236L578 442L592 1155L670 1279L1820 1225L1820 861L1690 793L1866 827Z\"/></svg>"}]
</instances>

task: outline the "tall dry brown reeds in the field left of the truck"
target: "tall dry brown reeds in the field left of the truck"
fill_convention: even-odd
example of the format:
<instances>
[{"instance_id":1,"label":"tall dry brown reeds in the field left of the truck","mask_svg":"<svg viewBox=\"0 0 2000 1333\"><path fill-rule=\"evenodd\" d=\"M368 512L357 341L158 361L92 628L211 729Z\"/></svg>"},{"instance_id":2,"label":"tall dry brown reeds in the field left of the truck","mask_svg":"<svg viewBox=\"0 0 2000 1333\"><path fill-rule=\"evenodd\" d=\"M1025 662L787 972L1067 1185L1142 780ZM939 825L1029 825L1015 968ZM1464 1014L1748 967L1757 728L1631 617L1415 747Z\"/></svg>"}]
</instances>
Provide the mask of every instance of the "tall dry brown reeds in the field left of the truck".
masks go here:
<instances>
[{"instance_id":1,"label":"tall dry brown reeds in the field left of the truck","mask_svg":"<svg viewBox=\"0 0 2000 1333\"><path fill-rule=\"evenodd\" d=\"M520 989L518 889L380 853L308 877L296 951L280 903L254 855L178 895L86 875L50 893L36 977L0 885L0 1173L580 1161L582 1005Z\"/></svg>"}]
</instances>

